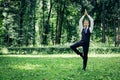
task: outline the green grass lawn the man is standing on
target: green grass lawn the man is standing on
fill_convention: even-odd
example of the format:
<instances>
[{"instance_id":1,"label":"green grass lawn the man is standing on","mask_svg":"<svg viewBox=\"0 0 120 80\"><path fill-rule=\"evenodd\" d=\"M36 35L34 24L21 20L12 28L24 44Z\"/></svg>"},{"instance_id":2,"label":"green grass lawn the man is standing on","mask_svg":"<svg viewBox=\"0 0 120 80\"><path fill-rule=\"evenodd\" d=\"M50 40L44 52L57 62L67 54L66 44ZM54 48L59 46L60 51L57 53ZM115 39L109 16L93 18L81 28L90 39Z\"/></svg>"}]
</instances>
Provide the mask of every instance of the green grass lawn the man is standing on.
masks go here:
<instances>
[{"instance_id":1,"label":"green grass lawn the man is standing on","mask_svg":"<svg viewBox=\"0 0 120 80\"><path fill-rule=\"evenodd\" d=\"M120 57L0 56L0 80L120 80Z\"/></svg>"}]
</instances>

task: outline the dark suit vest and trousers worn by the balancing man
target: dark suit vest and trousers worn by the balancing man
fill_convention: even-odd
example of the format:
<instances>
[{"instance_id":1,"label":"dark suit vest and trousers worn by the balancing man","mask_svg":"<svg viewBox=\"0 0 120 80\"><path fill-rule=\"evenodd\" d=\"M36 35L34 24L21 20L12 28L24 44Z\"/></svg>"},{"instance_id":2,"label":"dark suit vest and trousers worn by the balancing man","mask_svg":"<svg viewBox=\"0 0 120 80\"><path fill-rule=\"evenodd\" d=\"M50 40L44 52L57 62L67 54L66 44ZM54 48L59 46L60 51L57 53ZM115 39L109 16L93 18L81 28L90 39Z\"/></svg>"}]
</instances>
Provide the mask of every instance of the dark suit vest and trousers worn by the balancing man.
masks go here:
<instances>
[{"instance_id":1,"label":"dark suit vest and trousers worn by the balancing man","mask_svg":"<svg viewBox=\"0 0 120 80\"><path fill-rule=\"evenodd\" d=\"M81 40L71 45L70 48L83 58L83 69L85 70L87 66L87 60L88 60L88 50L89 50L89 42L90 42L90 35L91 35L90 29L88 28L85 31L85 29L83 28L81 34L82 34ZM79 52L79 50L77 50L77 48L80 46L83 47L84 54Z\"/></svg>"}]
</instances>

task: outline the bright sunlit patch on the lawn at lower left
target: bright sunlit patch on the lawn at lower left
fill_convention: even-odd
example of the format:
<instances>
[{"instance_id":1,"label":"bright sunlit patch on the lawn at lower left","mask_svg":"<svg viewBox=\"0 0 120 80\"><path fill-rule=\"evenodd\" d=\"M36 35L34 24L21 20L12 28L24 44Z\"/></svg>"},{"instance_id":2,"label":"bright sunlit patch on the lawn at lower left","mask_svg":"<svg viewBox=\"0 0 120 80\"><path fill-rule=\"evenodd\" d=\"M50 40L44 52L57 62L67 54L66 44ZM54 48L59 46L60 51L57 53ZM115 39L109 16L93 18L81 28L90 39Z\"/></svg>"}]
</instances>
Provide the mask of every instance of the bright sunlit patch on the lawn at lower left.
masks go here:
<instances>
[{"instance_id":1,"label":"bright sunlit patch on the lawn at lower left","mask_svg":"<svg viewBox=\"0 0 120 80\"><path fill-rule=\"evenodd\" d=\"M33 64L24 64L24 65L14 65L14 69L20 69L20 70L34 70L39 67L42 67L42 65L33 65Z\"/></svg>"}]
</instances>

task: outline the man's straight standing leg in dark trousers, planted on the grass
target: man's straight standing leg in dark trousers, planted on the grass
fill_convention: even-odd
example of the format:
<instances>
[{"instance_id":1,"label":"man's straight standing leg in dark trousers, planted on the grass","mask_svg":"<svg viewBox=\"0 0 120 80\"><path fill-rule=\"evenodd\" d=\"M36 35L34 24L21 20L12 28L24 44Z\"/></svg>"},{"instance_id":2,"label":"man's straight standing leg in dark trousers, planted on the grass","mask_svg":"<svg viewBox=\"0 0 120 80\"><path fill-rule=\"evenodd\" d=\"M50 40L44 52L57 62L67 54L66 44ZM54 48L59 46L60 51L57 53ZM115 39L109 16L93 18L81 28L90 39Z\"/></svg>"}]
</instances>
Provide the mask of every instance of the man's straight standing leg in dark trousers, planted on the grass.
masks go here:
<instances>
[{"instance_id":1,"label":"man's straight standing leg in dark trousers, planted on the grass","mask_svg":"<svg viewBox=\"0 0 120 80\"><path fill-rule=\"evenodd\" d=\"M86 70L86 66L87 66L88 49L89 49L89 45L83 46L83 52L84 52L84 57L83 57L83 70Z\"/></svg>"}]
</instances>

